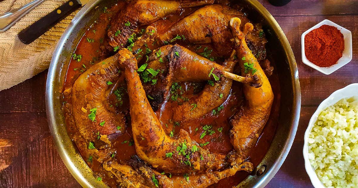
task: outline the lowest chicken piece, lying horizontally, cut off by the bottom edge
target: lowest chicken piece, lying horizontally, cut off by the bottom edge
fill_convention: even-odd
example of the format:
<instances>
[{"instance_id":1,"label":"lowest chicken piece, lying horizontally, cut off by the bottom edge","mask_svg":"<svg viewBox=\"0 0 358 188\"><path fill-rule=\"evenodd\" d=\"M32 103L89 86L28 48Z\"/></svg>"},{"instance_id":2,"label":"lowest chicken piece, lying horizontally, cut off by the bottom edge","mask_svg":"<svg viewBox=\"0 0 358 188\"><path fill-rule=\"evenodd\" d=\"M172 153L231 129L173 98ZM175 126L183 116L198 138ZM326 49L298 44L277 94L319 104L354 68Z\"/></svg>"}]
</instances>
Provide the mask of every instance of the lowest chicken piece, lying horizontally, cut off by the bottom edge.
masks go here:
<instances>
[{"instance_id":1,"label":"lowest chicken piece, lying horizontally, cut off by the bottom edge","mask_svg":"<svg viewBox=\"0 0 358 188\"><path fill-rule=\"evenodd\" d=\"M175 175L169 172L162 174L148 167L136 156L126 165L118 164L115 160L110 159L103 163L103 167L118 178L117 182L123 188L205 188L236 174L238 171L252 172L253 169L252 163L244 162L222 171L209 171L203 174Z\"/></svg>"}]
</instances>

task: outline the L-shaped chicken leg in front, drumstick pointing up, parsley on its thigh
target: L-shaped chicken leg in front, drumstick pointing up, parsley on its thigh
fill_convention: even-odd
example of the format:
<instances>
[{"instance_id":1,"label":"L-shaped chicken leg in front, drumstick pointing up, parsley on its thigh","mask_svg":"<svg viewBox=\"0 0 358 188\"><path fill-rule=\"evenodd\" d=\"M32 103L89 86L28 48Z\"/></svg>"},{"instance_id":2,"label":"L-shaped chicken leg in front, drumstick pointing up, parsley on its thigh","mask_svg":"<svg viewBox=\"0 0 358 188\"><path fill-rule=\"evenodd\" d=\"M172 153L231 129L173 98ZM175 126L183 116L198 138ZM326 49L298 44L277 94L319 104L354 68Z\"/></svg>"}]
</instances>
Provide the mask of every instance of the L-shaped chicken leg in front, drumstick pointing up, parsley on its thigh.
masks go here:
<instances>
[{"instance_id":1,"label":"L-shaped chicken leg in front, drumstick pointing up, parsley on its thigh","mask_svg":"<svg viewBox=\"0 0 358 188\"><path fill-rule=\"evenodd\" d=\"M182 54L178 50L175 50L175 52L179 52L179 56ZM175 52L173 51L171 56ZM147 100L146 93L137 73L136 58L126 49L121 50L118 54L118 62L125 69L124 74L129 95L131 125L137 155L154 168L166 172L188 173L222 168L225 164L224 159L226 156L210 153L208 150L202 149L198 143L190 139L188 132L180 130L177 138L171 138L165 134L162 125ZM198 71L205 69L200 68L202 66L197 61L197 64L192 64L190 67L193 68L193 71ZM197 73L198 75L195 75L196 79L209 79L208 73ZM192 75L191 77L194 76ZM188 81L187 79L190 79L189 75L179 78L179 80L183 81Z\"/></svg>"}]
</instances>

